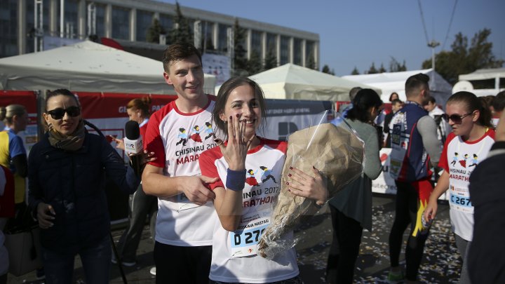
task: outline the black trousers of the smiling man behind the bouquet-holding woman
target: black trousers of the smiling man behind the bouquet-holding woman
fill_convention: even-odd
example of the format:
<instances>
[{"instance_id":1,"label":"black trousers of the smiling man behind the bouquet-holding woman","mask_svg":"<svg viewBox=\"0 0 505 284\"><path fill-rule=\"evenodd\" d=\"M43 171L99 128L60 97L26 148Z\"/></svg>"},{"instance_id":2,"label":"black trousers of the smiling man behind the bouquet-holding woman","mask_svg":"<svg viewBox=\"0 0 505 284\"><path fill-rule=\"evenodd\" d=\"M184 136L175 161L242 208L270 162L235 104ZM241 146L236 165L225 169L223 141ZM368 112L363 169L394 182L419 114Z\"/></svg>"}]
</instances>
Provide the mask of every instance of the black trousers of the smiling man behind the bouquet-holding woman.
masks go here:
<instances>
[{"instance_id":1,"label":"black trousers of the smiling man behind the bouquet-holding woman","mask_svg":"<svg viewBox=\"0 0 505 284\"><path fill-rule=\"evenodd\" d=\"M208 283L212 245L177 247L154 243L156 284Z\"/></svg>"}]
</instances>

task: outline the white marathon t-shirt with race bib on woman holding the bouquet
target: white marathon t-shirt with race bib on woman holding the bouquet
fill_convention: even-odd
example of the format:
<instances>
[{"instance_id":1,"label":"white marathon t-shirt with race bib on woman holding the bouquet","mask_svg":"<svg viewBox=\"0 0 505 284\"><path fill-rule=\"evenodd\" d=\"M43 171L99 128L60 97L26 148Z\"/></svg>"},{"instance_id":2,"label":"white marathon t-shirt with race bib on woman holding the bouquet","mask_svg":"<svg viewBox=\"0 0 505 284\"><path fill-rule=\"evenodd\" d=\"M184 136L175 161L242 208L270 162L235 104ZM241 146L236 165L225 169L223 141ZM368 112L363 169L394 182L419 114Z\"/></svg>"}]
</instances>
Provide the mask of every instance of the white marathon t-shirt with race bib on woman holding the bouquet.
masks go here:
<instances>
[{"instance_id":1,"label":"white marathon t-shirt with race bib on woman holding the bouquet","mask_svg":"<svg viewBox=\"0 0 505 284\"><path fill-rule=\"evenodd\" d=\"M299 274L294 248L272 260L256 255L257 241L270 222L274 201L281 191L286 147L286 142L261 139L258 147L248 151L241 223L236 231L230 232L216 222L211 280L267 283L290 279ZM199 163L203 175L220 177L218 182L210 184L211 189L224 187L228 165L220 148L203 152ZM292 238L292 232L286 237Z\"/></svg>"}]
</instances>

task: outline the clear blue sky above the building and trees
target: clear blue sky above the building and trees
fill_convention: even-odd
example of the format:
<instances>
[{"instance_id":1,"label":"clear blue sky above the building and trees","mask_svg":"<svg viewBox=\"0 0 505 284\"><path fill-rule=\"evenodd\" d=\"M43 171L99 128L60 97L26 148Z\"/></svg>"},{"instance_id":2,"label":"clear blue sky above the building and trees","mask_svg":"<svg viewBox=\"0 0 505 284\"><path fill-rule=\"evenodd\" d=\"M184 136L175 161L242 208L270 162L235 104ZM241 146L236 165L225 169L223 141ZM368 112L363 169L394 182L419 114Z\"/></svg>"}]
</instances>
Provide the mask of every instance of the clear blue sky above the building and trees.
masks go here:
<instances>
[{"instance_id":1,"label":"clear blue sky above the building and trees","mask_svg":"<svg viewBox=\"0 0 505 284\"><path fill-rule=\"evenodd\" d=\"M175 4L175 0L161 0ZM480 29L491 29L496 58L505 59L505 1L421 0L429 40L450 50L454 34L471 38ZM431 58L415 0L180 0L181 6L200 8L319 34L321 67L328 65L337 76L349 75L356 66L363 74L381 63L389 69L391 56L405 60L408 70L421 69ZM449 36L446 38L447 29Z\"/></svg>"}]
</instances>

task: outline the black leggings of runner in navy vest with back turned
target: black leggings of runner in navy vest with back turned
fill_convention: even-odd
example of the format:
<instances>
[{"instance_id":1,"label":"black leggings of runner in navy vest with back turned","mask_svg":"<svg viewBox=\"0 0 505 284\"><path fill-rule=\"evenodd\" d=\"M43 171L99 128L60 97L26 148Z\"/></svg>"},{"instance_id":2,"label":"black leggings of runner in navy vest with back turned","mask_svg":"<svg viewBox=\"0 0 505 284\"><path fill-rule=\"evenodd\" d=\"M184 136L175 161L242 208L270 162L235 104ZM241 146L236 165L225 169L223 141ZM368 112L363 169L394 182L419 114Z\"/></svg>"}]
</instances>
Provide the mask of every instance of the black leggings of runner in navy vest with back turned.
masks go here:
<instances>
[{"instance_id":1,"label":"black leggings of runner in navy vest with back turned","mask_svg":"<svg viewBox=\"0 0 505 284\"><path fill-rule=\"evenodd\" d=\"M417 271L421 264L424 243L429 234L412 236L417 222L419 206L419 188L410 182L396 181L396 214L389 234L389 258L391 266L399 265L400 250L403 242L403 233L410 224L410 234L405 248L405 278L417 280Z\"/></svg>"}]
</instances>

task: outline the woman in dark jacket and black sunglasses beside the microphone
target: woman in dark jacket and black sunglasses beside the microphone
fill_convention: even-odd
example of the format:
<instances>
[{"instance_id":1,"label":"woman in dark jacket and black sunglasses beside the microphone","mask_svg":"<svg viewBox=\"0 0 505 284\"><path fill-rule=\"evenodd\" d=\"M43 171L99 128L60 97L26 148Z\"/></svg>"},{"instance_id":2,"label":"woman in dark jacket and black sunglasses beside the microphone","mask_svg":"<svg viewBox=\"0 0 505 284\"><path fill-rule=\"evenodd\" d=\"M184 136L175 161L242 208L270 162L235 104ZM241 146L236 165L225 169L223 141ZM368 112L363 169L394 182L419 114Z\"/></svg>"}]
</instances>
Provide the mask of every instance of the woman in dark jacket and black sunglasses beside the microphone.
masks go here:
<instances>
[{"instance_id":1,"label":"woman in dark jacket and black sunglasses beside the microphone","mask_svg":"<svg viewBox=\"0 0 505 284\"><path fill-rule=\"evenodd\" d=\"M79 254L86 283L109 283L111 243L105 175L128 194L139 180L105 140L84 128L69 90L46 96L46 135L29 154L29 206L41 227L46 283L71 283Z\"/></svg>"}]
</instances>

